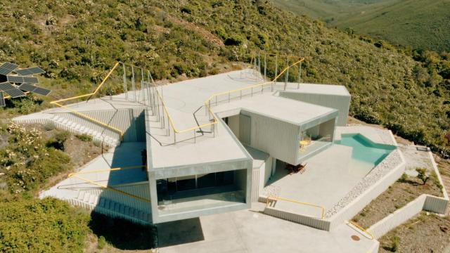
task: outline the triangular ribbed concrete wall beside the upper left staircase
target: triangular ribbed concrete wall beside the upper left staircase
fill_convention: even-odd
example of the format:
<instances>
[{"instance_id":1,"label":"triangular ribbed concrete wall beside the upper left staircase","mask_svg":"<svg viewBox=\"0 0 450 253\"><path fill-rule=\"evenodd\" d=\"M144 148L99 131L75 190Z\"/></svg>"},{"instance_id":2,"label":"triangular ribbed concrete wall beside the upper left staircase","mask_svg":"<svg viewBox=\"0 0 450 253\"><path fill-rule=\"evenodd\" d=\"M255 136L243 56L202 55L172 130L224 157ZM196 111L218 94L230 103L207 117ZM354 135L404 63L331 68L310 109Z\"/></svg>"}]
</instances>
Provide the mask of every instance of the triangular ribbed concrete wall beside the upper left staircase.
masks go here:
<instances>
[{"instance_id":1,"label":"triangular ribbed concrete wall beside the upper left staircase","mask_svg":"<svg viewBox=\"0 0 450 253\"><path fill-rule=\"evenodd\" d=\"M84 115L97 119L105 124L110 124L117 129L124 131L123 141L145 141L145 124L143 108L128 108L120 110L98 110L82 112ZM117 131L96 124L89 119L85 119L79 115L75 115L70 112L55 113L55 115L65 117L72 122L82 124L90 129L101 132L113 138L120 138L120 134Z\"/></svg>"}]
</instances>

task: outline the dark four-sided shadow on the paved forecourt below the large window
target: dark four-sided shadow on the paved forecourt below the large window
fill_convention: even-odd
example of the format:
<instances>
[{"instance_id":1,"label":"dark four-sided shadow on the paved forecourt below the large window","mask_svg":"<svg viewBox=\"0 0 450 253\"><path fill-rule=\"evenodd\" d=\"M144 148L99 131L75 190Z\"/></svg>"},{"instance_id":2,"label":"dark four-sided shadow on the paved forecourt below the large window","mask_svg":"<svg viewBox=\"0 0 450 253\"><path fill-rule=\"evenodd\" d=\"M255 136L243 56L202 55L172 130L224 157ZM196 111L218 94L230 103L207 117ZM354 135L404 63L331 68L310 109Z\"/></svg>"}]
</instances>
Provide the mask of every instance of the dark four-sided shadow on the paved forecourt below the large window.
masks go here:
<instances>
[{"instance_id":1,"label":"dark four-sided shadow on the paved forecourt below the large window","mask_svg":"<svg viewBox=\"0 0 450 253\"><path fill-rule=\"evenodd\" d=\"M199 218L156 224L158 247L169 247L205 240Z\"/></svg>"}]
</instances>

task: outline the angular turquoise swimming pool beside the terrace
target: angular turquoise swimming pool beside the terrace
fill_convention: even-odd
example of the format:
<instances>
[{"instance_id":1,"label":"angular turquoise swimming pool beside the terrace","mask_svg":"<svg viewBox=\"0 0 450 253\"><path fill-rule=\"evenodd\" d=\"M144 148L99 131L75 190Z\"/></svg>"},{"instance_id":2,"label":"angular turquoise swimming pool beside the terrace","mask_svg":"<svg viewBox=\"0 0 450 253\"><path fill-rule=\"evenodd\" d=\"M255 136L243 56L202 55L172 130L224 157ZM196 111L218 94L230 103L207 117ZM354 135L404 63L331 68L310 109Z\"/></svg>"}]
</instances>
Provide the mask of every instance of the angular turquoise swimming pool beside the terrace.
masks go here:
<instances>
[{"instance_id":1,"label":"angular turquoise swimming pool beside the terrace","mask_svg":"<svg viewBox=\"0 0 450 253\"><path fill-rule=\"evenodd\" d=\"M395 149L393 145L373 143L361 134L342 134L335 144L353 148L349 168L356 174L367 174Z\"/></svg>"}]
</instances>

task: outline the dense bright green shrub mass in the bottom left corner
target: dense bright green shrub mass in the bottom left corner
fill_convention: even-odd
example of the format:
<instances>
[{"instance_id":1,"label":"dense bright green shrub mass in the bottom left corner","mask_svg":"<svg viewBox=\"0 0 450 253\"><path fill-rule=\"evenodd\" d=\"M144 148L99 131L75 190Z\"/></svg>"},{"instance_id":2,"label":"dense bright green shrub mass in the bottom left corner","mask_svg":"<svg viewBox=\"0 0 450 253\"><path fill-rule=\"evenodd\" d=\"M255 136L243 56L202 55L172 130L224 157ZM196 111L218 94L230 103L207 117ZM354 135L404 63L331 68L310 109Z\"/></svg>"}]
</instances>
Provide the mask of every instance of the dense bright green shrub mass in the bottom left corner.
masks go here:
<instances>
[{"instance_id":1,"label":"dense bright green shrub mass in the bottom left corner","mask_svg":"<svg viewBox=\"0 0 450 253\"><path fill-rule=\"evenodd\" d=\"M61 200L0 202L1 252L82 252L89 215Z\"/></svg>"}]
</instances>

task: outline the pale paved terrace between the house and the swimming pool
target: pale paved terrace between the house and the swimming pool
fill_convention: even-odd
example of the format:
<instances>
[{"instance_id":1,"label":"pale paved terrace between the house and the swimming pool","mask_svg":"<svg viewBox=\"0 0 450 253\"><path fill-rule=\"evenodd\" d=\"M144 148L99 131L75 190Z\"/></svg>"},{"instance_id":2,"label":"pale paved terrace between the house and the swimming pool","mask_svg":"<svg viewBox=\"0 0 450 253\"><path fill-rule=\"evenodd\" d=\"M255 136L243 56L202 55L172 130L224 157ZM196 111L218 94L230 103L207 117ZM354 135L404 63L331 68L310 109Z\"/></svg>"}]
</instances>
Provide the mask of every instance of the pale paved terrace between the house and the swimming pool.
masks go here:
<instances>
[{"instance_id":1,"label":"pale paved terrace between the house and the swimming pool","mask_svg":"<svg viewBox=\"0 0 450 253\"><path fill-rule=\"evenodd\" d=\"M265 190L278 188L278 196L307 202L330 209L365 176L355 171L352 148L331 145L304 163L303 174L288 174L284 164L277 163L276 174L266 184ZM276 208L309 216L321 216L321 209L279 200Z\"/></svg>"}]
</instances>

